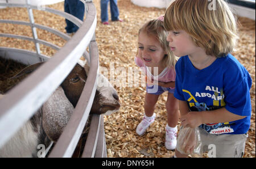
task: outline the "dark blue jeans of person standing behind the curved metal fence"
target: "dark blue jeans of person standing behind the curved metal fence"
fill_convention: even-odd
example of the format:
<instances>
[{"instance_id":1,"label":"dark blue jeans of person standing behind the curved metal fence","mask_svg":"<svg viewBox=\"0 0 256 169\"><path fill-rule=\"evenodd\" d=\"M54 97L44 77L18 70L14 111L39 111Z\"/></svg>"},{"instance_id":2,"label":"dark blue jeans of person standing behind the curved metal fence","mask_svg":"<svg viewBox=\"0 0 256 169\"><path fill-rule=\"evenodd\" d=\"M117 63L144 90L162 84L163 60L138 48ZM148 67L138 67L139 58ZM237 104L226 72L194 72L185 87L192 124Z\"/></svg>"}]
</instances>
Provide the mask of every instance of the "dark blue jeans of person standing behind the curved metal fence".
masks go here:
<instances>
[{"instance_id":1,"label":"dark blue jeans of person standing behind the curved metal fence","mask_svg":"<svg viewBox=\"0 0 256 169\"><path fill-rule=\"evenodd\" d=\"M76 16L76 18L80 20L84 19L84 3L79 0L65 0L64 11L68 14ZM73 22L69 21L68 19L65 19L65 21L67 23L67 27L65 27L67 33L73 33L79 29L76 24L73 24Z\"/></svg>"}]
</instances>

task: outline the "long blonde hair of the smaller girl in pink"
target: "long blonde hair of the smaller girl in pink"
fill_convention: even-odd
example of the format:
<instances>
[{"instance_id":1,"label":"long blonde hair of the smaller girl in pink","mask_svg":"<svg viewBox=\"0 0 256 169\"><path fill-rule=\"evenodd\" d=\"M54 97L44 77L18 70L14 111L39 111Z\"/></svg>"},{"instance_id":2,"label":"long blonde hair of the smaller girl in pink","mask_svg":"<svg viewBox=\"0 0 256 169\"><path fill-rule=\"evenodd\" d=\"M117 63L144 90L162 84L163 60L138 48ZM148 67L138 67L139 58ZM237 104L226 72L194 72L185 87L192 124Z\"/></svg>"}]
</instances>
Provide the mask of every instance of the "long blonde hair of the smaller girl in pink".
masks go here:
<instances>
[{"instance_id":1,"label":"long blonde hair of the smaller girl in pink","mask_svg":"<svg viewBox=\"0 0 256 169\"><path fill-rule=\"evenodd\" d=\"M158 39L160 46L167 53L163 58L165 64L164 66L174 67L177 58L171 52L169 43L166 40L168 32L164 29L163 22L159 19L152 19L145 23L141 29L139 29L139 33L141 33L142 31L147 33L148 36L154 36L156 39Z\"/></svg>"}]
</instances>

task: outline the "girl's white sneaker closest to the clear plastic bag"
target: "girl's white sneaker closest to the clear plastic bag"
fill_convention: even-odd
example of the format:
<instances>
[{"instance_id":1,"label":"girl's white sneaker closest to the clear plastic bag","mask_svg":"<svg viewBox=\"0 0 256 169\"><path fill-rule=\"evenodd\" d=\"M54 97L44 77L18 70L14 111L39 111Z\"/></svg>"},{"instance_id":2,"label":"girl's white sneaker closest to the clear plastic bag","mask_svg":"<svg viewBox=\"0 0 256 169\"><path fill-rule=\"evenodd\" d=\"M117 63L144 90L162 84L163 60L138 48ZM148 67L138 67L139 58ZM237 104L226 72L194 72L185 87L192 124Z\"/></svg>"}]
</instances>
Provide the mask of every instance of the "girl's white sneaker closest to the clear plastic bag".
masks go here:
<instances>
[{"instance_id":1,"label":"girl's white sneaker closest to the clear plastic bag","mask_svg":"<svg viewBox=\"0 0 256 169\"><path fill-rule=\"evenodd\" d=\"M166 141L164 142L164 146L166 146L167 150L176 149L177 145L177 126L175 128L171 128L166 125Z\"/></svg>"}]
</instances>

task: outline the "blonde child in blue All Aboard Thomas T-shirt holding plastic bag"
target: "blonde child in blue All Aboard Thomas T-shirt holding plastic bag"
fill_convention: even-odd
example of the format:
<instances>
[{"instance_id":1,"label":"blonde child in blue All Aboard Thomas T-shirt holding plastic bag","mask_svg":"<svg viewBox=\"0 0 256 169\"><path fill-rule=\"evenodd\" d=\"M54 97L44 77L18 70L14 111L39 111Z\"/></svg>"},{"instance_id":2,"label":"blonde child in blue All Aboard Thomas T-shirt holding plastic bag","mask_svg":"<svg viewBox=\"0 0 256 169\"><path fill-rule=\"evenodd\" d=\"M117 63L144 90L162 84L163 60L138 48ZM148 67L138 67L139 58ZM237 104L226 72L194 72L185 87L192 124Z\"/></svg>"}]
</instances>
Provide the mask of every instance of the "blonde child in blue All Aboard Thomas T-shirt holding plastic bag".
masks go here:
<instances>
[{"instance_id":1,"label":"blonde child in blue All Aboard Thomas T-shirt holding plastic bag","mask_svg":"<svg viewBox=\"0 0 256 169\"><path fill-rule=\"evenodd\" d=\"M210 157L242 157L250 128L251 77L230 54L237 36L228 4L176 0L166 10L164 27L172 52L180 57L174 96L181 125L200 126L203 150L211 150ZM187 157L177 150L175 155Z\"/></svg>"}]
</instances>

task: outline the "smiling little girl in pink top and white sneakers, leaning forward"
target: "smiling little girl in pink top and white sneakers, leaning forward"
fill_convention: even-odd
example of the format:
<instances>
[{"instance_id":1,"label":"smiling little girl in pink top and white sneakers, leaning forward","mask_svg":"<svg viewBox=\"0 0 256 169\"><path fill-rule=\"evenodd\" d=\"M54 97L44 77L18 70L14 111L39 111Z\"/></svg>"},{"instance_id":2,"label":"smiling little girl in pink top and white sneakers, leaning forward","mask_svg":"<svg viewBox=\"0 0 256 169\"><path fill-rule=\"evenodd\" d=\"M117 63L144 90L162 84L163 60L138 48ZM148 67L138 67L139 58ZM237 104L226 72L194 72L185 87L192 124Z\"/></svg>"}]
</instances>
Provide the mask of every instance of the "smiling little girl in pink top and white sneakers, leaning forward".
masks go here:
<instances>
[{"instance_id":1,"label":"smiling little girl in pink top and white sneakers, leaning forward","mask_svg":"<svg viewBox=\"0 0 256 169\"><path fill-rule=\"evenodd\" d=\"M153 19L139 29L136 64L146 73L147 86L144 104L144 118L136 132L142 136L155 120L155 104L164 91L168 91L166 102L167 125L165 146L168 150L176 147L177 121L179 119L178 101L174 98L176 57L168 47L168 32L163 27L163 16Z\"/></svg>"}]
</instances>

